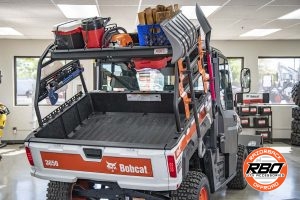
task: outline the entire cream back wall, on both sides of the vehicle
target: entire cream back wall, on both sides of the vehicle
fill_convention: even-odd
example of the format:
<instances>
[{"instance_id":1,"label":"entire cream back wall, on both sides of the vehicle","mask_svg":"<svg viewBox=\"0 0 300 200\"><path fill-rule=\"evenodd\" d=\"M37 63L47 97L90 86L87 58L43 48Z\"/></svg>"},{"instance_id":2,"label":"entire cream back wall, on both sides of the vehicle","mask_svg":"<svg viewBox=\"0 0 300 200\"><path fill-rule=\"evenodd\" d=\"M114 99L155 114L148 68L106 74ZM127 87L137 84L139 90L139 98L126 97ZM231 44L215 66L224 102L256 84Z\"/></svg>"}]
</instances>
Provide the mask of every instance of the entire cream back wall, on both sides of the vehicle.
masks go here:
<instances>
[{"instance_id":1,"label":"entire cream back wall, on both sides of the vehicle","mask_svg":"<svg viewBox=\"0 0 300 200\"><path fill-rule=\"evenodd\" d=\"M31 106L14 106L14 56L40 56L50 43L50 40L0 40L0 69L3 79L0 84L0 102L7 105L11 111L3 140L23 140L32 129ZM212 45L226 56L245 58L245 67L252 70L252 90L258 88L257 58L258 56L300 56L300 41L213 41ZM87 85L92 88L91 61L83 63ZM71 90L73 86L68 87ZM67 92L71 93L70 91ZM43 112L49 112L47 106ZM291 106L273 106L274 138L289 138L291 123ZM17 127L17 134L12 128Z\"/></svg>"}]
</instances>

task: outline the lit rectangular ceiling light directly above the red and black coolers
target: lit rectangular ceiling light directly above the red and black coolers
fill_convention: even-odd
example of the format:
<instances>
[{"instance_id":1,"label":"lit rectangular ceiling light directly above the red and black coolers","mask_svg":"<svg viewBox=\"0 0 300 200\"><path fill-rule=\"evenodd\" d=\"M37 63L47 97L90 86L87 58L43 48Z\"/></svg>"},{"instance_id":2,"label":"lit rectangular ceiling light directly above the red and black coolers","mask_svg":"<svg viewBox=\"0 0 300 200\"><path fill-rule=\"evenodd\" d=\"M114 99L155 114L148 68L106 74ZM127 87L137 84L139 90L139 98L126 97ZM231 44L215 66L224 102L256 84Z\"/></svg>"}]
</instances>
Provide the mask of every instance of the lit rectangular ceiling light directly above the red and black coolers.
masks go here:
<instances>
[{"instance_id":1,"label":"lit rectangular ceiling light directly above the red and black coolers","mask_svg":"<svg viewBox=\"0 0 300 200\"><path fill-rule=\"evenodd\" d=\"M71 19L99 16L96 5L57 4L57 6L67 18L71 18Z\"/></svg>"}]
</instances>

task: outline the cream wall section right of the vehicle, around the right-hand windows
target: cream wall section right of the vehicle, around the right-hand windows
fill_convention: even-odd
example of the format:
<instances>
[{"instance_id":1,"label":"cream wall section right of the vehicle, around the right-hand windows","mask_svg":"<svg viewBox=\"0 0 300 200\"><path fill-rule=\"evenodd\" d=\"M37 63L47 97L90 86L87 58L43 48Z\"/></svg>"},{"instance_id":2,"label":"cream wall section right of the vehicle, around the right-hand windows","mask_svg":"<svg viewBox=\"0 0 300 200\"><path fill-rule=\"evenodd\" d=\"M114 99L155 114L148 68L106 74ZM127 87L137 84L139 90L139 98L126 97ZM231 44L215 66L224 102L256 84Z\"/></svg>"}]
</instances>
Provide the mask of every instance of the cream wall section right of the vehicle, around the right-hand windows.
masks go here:
<instances>
[{"instance_id":1,"label":"cream wall section right of the vehicle, around the right-hand windows","mask_svg":"<svg viewBox=\"0 0 300 200\"><path fill-rule=\"evenodd\" d=\"M244 57L244 66L251 69L252 92L257 92L259 56L300 57L300 40L213 41L212 45L227 57ZM273 105L273 138L290 138L292 105Z\"/></svg>"}]
</instances>

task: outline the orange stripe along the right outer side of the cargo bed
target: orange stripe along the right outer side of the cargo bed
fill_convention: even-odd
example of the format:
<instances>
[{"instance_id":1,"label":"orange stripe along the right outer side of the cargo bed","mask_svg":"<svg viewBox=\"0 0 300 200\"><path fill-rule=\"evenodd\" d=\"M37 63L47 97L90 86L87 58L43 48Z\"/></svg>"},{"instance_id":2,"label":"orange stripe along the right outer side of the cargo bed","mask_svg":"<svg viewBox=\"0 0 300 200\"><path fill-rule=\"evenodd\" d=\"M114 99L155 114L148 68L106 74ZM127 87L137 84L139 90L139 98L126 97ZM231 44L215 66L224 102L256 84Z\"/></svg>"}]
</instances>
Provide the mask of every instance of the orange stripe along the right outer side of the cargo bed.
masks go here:
<instances>
[{"instance_id":1,"label":"orange stripe along the right outer side of the cargo bed","mask_svg":"<svg viewBox=\"0 0 300 200\"><path fill-rule=\"evenodd\" d=\"M203 107L201 109L200 113L198 114L199 124L202 124L206 115L207 115L207 113L206 113L205 107ZM194 136L195 133L196 133L196 123L194 122L193 124L191 124L191 126L188 129L187 133L185 134L183 140L181 141L181 143L179 144L179 146L177 147L177 149L175 151L176 159L179 158L180 154L184 151L184 149L186 148L186 146L188 145L188 143L190 142L191 138Z\"/></svg>"}]
</instances>

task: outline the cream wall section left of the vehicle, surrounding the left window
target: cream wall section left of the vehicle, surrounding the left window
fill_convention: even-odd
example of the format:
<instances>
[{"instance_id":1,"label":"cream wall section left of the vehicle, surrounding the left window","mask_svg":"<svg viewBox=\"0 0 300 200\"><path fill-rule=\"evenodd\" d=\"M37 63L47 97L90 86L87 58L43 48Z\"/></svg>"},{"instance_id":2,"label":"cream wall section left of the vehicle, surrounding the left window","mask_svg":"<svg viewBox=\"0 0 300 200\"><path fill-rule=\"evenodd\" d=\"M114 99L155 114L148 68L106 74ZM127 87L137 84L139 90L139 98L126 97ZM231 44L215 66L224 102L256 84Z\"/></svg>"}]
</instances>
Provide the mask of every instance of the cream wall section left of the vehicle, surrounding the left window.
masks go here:
<instances>
[{"instance_id":1,"label":"cream wall section left of the vehicle, surrounding the left window","mask_svg":"<svg viewBox=\"0 0 300 200\"><path fill-rule=\"evenodd\" d=\"M14 103L14 56L40 56L51 40L8 40L0 39L0 70L2 83L0 84L0 102L10 110L2 140L23 140L36 124L33 119L35 112L32 106L15 106ZM83 66L91 66L91 61L82 62ZM92 77L92 67L85 67L85 76ZM92 88L92 79L87 79L88 88ZM74 86L73 86L74 85ZM75 89L76 82L68 85L67 98ZM42 106L45 115L55 107ZM34 123L34 124L33 124ZM12 129L17 127L17 133Z\"/></svg>"}]
</instances>

